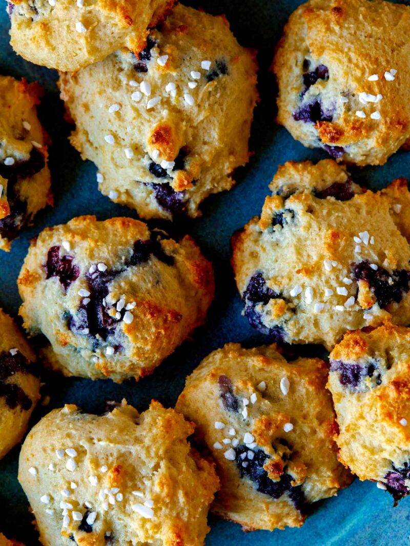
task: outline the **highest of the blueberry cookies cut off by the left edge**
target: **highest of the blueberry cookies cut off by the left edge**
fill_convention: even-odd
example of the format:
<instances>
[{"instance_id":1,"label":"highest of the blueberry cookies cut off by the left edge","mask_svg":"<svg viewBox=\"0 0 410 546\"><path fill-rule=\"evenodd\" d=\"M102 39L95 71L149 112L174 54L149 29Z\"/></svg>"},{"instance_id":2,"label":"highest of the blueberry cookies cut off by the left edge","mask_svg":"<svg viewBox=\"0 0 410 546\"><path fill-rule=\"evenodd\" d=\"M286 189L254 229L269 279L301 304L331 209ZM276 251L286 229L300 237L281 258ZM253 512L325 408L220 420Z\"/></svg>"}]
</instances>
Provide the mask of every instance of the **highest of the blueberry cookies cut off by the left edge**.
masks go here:
<instances>
[{"instance_id":1,"label":"highest of the blueberry cookies cut off by the left edge","mask_svg":"<svg viewBox=\"0 0 410 546\"><path fill-rule=\"evenodd\" d=\"M0 249L50 203L45 133L37 117L39 87L0 76Z\"/></svg>"}]
</instances>

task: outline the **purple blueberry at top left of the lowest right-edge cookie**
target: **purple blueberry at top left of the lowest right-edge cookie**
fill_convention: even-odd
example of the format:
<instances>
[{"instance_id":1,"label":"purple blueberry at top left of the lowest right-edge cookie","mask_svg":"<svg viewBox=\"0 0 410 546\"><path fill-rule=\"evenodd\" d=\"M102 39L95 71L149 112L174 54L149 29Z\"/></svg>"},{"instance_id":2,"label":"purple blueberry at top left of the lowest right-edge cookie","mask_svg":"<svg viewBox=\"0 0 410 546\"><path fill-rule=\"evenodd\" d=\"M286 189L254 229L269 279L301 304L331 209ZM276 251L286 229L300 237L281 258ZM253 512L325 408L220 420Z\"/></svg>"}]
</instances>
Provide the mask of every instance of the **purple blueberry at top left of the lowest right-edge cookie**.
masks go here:
<instances>
[{"instance_id":1,"label":"purple blueberry at top left of the lowest right-edge cookie","mask_svg":"<svg viewBox=\"0 0 410 546\"><path fill-rule=\"evenodd\" d=\"M352 390L363 391L382 383L382 370L376 360L370 360L364 365L343 362L342 360L331 360L330 371L338 372L340 383ZM370 377L372 381L366 381L367 377Z\"/></svg>"}]
</instances>

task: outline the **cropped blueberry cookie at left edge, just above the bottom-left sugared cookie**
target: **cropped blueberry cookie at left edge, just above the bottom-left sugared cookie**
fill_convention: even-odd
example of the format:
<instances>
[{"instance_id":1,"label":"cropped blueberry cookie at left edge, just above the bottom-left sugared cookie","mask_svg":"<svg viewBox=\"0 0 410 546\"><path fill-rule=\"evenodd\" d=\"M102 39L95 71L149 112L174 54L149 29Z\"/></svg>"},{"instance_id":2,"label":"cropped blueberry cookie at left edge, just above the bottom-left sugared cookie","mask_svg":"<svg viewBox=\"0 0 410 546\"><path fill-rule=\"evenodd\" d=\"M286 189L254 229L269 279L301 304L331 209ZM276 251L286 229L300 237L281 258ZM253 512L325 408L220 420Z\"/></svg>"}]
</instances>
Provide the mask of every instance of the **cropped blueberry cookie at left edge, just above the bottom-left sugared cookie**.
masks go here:
<instances>
[{"instance_id":1,"label":"cropped blueberry cookie at left edge, just above the bottom-left sugared cookie","mask_svg":"<svg viewBox=\"0 0 410 546\"><path fill-rule=\"evenodd\" d=\"M39 390L35 355L13 319L0 310L0 459L25 434Z\"/></svg>"}]
</instances>

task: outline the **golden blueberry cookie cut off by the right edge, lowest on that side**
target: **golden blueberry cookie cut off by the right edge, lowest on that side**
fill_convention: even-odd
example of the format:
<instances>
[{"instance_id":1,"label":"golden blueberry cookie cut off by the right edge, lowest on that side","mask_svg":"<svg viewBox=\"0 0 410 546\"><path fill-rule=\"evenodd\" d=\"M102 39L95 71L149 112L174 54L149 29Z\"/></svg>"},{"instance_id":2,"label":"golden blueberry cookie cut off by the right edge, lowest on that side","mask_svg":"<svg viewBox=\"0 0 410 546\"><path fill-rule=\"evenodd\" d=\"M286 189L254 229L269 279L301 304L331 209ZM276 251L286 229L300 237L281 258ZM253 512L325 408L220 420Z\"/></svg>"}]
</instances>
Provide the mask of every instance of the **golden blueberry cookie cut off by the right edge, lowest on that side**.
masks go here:
<instances>
[{"instance_id":1,"label":"golden blueberry cookie cut off by the right edge, lowest on that side","mask_svg":"<svg viewBox=\"0 0 410 546\"><path fill-rule=\"evenodd\" d=\"M410 494L410 329L348 332L330 354L339 459L395 501Z\"/></svg>"}]
</instances>

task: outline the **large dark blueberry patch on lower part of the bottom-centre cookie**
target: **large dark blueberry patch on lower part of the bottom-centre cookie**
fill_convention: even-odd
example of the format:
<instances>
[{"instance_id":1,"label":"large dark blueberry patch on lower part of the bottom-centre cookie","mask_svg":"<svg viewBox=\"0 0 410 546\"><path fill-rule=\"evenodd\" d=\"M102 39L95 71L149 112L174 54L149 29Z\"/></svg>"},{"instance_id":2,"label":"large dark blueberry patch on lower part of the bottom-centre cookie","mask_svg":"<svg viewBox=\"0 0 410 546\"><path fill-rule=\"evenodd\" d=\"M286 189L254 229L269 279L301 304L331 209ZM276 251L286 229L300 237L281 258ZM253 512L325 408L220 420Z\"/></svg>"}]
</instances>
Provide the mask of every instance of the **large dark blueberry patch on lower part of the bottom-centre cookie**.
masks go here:
<instances>
[{"instance_id":1,"label":"large dark blueberry patch on lower part of the bottom-centre cookie","mask_svg":"<svg viewBox=\"0 0 410 546\"><path fill-rule=\"evenodd\" d=\"M243 454L248 452L246 446L238 446L235 449L236 466L241 474L241 478L245 477L256 485L257 491L269 495L272 498L280 498L282 495L288 495L293 501L295 508L301 513L306 513L308 503L306 501L301 485L292 485L292 476L286 472L282 474L280 480L274 482L268 476L268 472L264 469L266 459L269 459L262 449L254 452L252 460L245 458ZM242 455L242 456L241 456ZM243 466L245 462L246 466ZM246 464L247 463L247 464Z\"/></svg>"}]
</instances>

